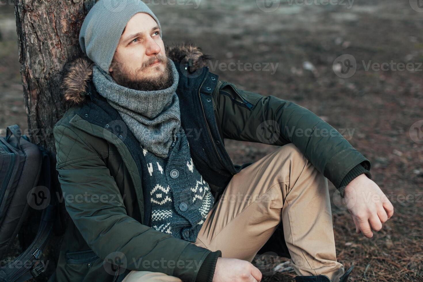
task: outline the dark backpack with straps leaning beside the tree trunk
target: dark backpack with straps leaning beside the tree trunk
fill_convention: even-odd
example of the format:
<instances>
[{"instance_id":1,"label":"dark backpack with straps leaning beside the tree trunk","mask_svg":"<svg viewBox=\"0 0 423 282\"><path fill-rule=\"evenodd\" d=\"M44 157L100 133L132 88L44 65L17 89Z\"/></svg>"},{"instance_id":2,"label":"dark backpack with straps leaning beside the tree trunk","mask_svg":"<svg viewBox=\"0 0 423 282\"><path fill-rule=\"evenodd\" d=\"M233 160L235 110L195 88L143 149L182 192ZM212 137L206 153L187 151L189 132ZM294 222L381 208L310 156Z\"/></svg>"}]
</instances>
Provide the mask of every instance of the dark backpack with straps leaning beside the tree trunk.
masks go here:
<instances>
[{"instance_id":1,"label":"dark backpack with straps leaning beside the tree trunk","mask_svg":"<svg viewBox=\"0 0 423 282\"><path fill-rule=\"evenodd\" d=\"M46 270L43 250L55 220L49 154L21 132L15 124L7 127L4 138L0 137L0 260L10 250L30 212L40 211L41 221L27 249L0 266L2 282L26 281Z\"/></svg>"}]
</instances>

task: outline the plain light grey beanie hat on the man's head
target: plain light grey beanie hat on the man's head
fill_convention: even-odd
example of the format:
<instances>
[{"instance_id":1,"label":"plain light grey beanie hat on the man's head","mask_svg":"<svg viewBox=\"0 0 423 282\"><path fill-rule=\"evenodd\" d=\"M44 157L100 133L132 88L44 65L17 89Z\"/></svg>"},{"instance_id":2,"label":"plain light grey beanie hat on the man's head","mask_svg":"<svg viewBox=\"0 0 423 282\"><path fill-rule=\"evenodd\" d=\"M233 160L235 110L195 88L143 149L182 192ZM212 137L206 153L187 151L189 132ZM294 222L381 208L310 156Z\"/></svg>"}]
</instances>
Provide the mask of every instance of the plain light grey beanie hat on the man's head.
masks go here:
<instances>
[{"instance_id":1,"label":"plain light grey beanie hat on the man's head","mask_svg":"<svg viewBox=\"0 0 423 282\"><path fill-rule=\"evenodd\" d=\"M149 14L160 27L159 20L141 0L99 0L82 23L79 35L82 52L107 74L124 28L137 13Z\"/></svg>"}]
</instances>

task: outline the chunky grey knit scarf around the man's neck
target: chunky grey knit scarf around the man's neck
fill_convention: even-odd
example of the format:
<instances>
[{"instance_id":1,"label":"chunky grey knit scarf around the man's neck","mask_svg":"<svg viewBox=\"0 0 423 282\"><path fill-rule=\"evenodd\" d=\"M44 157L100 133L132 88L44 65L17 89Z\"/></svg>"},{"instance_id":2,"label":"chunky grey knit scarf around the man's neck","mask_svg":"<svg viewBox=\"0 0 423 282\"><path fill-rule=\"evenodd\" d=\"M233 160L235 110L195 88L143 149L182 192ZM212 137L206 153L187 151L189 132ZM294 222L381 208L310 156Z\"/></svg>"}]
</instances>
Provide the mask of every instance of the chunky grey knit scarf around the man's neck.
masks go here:
<instances>
[{"instance_id":1,"label":"chunky grey knit scarf around the man's neck","mask_svg":"<svg viewBox=\"0 0 423 282\"><path fill-rule=\"evenodd\" d=\"M94 64L93 83L132 131L141 145L161 158L167 158L170 145L181 127L179 98L176 94L179 74L172 65L173 84L155 91L140 91L118 85L110 74Z\"/></svg>"}]
</instances>

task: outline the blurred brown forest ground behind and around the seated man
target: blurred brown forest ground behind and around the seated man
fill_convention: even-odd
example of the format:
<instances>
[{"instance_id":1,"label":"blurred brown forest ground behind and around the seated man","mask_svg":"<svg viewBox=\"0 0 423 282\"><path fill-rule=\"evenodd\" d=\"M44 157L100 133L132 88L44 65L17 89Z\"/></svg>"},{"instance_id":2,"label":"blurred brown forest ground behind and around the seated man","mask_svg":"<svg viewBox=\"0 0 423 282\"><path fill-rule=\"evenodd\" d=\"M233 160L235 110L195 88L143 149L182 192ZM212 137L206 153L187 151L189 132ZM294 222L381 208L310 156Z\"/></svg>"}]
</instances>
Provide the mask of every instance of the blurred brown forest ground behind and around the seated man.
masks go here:
<instances>
[{"instance_id":1,"label":"blurred brown forest ground behind and around the seated man","mask_svg":"<svg viewBox=\"0 0 423 282\"><path fill-rule=\"evenodd\" d=\"M146 3L160 20L165 44L196 44L214 57L209 66L220 79L308 108L371 161L374 181L395 207L373 238L355 233L330 184L338 260L355 265L350 280L423 281L423 1ZM0 0L2 136L11 124L27 128L17 50L13 1ZM237 64L234 70L225 69L229 63ZM383 70L377 67L383 63ZM266 67L271 64L275 71ZM236 164L275 150L259 143L225 144ZM257 256L262 281L293 281L289 264L273 270L285 260Z\"/></svg>"}]
</instances>

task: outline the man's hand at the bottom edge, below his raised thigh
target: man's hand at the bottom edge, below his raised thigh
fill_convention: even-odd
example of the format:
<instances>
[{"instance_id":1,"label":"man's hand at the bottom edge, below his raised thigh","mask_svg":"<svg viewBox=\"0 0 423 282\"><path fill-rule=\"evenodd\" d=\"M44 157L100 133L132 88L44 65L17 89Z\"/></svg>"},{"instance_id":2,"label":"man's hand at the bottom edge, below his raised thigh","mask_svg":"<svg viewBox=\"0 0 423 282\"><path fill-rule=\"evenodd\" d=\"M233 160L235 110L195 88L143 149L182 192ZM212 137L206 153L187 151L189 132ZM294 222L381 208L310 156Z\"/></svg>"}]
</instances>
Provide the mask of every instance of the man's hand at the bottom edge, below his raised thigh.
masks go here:
<instances>
[{"instance_id":1,"label":"man's hand at the bottom edge, below his raised thigh","mask_svg":"<svg viewBox=\"0 0 423 282\"><path fill-rule=\"evenodd\" d=\"M260 282L261 272L247 260L219 257L213 282Z\"/></svg>"}]
</instances>

